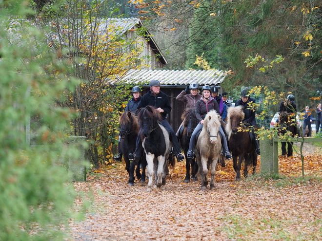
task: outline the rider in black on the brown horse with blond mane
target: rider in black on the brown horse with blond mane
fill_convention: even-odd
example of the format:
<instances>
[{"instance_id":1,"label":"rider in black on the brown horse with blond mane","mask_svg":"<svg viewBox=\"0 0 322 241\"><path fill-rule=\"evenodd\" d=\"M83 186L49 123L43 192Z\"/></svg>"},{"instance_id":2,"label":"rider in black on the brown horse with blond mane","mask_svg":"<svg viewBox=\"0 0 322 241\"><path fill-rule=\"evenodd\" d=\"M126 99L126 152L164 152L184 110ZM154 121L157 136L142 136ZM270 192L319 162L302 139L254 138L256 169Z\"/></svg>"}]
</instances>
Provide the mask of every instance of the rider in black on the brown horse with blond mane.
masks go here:
<instances>
[{"instance_id":1,"label":"rider in black on the brown horse with blond mane","mask_svg":"<svg viewBox=\"0 0 322 241\"><path fill-rule=\"evenodd\" d=\"M250 97L248 88L245 88L241 91L241 99L236 101L235 106L242 106L242 111L245 113L245 117L242 121L244 124L247 126L256 126L255 110L251 109L251 103L255 103L255 99ZM257 135L255 134L254 129L252 128L249 133L253 135L256 154L261 155L260 144L257 140Z\"/></svg>"}]
</instances>

